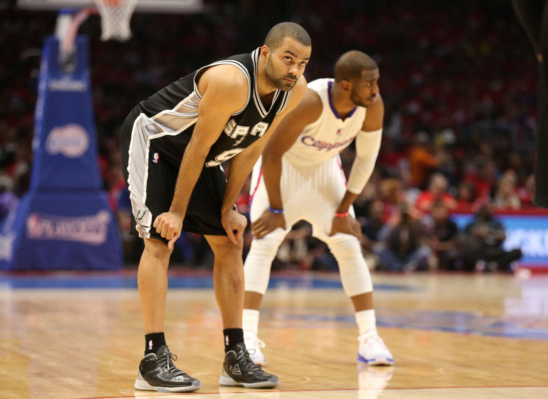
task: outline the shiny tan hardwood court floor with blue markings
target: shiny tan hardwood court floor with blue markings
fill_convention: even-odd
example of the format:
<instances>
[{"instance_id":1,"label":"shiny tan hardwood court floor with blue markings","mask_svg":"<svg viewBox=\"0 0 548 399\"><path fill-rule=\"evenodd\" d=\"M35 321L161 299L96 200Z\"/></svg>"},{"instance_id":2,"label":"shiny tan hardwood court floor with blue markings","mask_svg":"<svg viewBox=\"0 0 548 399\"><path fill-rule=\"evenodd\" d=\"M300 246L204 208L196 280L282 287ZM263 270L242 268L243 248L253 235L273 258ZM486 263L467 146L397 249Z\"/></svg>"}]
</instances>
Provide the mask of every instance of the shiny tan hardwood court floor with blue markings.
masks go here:
<instances>
[{"instance_id":1,"label":"shiny tan hardwood court floor with blue markings","mask_svg":"<svg viewBox=\"0 0 548 399\"><path fill-rule=\"evenodd\" d=\"M0 398L185 396L134 391L142 325L134 275L0 276ZM277 390L219 387L220 314L210 288L168 293L165 333L194 398L548 397L548 279L374 275L394 367L357 366L357 331L336 275L273 279L260 338ZM204 281L209 283L204 285ZM210 284L174 276L172 287ZM109 288L100 288L100 287ZM78 287L78 288L75 288ZM127 287L127 288L120 288Z\"/></svg>"}]
</instances>

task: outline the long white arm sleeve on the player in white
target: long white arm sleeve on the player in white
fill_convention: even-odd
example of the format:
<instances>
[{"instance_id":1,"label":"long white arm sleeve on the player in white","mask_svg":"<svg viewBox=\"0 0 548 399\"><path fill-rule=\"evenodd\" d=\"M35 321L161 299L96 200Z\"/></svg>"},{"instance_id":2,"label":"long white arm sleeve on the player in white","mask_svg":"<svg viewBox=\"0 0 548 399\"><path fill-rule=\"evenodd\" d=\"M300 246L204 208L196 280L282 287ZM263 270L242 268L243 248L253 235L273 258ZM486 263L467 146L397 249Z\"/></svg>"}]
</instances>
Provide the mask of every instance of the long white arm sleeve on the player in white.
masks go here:
<instances>
[{"instance_id":1,"label":"long white arm sleeve on the player in white","mask_svg":"<svg viewBox=\"0 0 548 399\"><path fill-rule=\"evenodd\" d=\"M375 161L379 155L383 129L361 131L356 136L356 158L346 184L346 189L353 194L361 194L375 169Z\"/></svg>"}]
</instances>

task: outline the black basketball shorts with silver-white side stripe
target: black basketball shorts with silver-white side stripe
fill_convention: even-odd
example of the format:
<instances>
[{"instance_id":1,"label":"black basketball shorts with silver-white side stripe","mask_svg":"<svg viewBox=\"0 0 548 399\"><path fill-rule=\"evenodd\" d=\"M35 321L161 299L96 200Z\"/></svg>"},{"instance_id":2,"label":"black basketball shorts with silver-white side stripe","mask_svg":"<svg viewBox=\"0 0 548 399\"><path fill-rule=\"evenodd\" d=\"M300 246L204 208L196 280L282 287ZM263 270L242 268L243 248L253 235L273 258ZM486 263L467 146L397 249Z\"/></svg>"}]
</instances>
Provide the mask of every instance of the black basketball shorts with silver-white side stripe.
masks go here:
<instances>
[{"instance_id":1,"label":"black basketball shorts with silver-white side stripe","mask_svg":"<svg viewBox=\"0 0 548 399\"><path fill-rule=\"evenodd\" d=\"M120 154L125 183L132 201L132 234L155 238L167 244L153 223L158 215L169 211L179 165L168 163L155 151L146 135L140 134L139 106L125 119L120 132ZM133 135L133 137L132 137ZM181 154L182 155L182 154ZM128 167L129 166L129 167ZM206 167L196 182L182 223L182 231L204 235L226 235L221 224L221 205L226 178L220 166Z\"/></svg>"}]
</instances>

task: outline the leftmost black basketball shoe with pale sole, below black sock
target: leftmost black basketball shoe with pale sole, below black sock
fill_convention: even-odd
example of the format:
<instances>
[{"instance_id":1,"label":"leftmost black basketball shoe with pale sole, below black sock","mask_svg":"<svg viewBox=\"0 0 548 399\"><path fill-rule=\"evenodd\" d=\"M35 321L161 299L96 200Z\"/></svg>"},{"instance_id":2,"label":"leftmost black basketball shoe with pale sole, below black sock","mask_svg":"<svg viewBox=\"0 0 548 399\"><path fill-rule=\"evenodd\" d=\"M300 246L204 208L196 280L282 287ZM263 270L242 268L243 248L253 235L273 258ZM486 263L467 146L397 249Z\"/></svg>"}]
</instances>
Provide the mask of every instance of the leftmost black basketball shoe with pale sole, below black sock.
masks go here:
<instances>
[{"instance_id":1,"label":"leftmost black basketball shoe with pale sole, below black sock","mask_svg":"<svg viewBox=\"0 0 548 399\"><path fill-rule=\"evenodd\" d=\"M191 392L201 388L200 381L173 365L177 356L162 345L156 353L142 358L135 389L158 392Z\"/></svg>"}]
</instances>

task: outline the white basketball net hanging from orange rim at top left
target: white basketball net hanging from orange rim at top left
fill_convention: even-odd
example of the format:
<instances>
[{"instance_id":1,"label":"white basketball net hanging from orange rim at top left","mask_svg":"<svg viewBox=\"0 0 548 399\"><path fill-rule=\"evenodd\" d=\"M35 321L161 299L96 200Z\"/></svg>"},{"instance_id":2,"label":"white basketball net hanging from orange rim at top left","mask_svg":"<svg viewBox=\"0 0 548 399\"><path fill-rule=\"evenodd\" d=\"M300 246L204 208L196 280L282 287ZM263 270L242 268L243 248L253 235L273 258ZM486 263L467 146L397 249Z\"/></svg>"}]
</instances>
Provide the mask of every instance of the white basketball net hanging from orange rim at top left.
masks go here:
<instances>
[{"instance_id":1,"label":"white basketball net hanging from orange rim at top left","mask_svg":"<svg viewBox=\"0 0 548 399\"><path fill-rule=\"evenodd\" d=\"M138 0L95 0L101 14L101 40L127 42L132 37L129 21Z\"/></svg>"}]
</instances>

